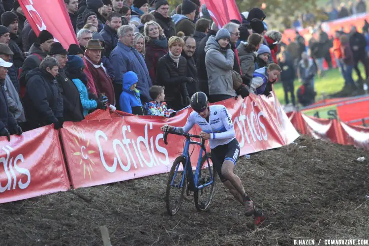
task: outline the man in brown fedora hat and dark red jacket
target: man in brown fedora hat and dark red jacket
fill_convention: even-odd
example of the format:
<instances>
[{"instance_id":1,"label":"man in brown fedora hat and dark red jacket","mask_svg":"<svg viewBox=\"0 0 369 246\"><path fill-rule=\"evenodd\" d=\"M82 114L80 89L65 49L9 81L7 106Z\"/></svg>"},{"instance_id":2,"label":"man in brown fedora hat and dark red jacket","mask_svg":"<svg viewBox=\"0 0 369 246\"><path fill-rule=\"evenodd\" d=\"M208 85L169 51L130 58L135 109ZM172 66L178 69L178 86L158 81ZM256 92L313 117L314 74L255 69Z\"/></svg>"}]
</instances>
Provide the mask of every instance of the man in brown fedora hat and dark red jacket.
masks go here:
<instances>
[{"instance_id":1,"label":"man in brown fedora hat and dark red jacket","mask_svg":"<svg viewBox=\"0 0 369 246\"><path fill-rule=\"evenodd\" d=\"M101 62L101 51L103 49L104 47L101 46L99 40L92 39L87 43L83 59L91 72L97 94L105 93L109 104L115 105L113 83L107 73L107 69Z\"/></svg>"}]
</instances>

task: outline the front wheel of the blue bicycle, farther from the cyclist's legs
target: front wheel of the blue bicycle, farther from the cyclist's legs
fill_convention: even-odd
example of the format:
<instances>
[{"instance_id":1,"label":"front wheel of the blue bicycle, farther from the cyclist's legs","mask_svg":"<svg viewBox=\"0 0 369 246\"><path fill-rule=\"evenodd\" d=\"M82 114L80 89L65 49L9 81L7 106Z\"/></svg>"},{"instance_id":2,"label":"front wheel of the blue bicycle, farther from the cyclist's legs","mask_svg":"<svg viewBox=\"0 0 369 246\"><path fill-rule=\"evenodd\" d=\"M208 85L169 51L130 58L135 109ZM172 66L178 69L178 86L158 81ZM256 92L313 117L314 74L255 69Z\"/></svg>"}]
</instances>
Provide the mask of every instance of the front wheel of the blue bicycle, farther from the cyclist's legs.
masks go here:
<instances>
[{"instance_id":1,"label":"front wheel of the blue bicycle, farther from the cyclist's legs","mask_svg":"<svg viewBox=\"0 0 369 246\"><path fill-rule=\"evenodd\" d=\"M178 213L183 201L184 190L186 188L187 181L184 170L179 170L179 168L182 165L182 168L184 169L185 163L186 161L184 157L178 156L174 160L169 173L165 204L168 214L172 216Z\"/></svg>"}]
</instances>

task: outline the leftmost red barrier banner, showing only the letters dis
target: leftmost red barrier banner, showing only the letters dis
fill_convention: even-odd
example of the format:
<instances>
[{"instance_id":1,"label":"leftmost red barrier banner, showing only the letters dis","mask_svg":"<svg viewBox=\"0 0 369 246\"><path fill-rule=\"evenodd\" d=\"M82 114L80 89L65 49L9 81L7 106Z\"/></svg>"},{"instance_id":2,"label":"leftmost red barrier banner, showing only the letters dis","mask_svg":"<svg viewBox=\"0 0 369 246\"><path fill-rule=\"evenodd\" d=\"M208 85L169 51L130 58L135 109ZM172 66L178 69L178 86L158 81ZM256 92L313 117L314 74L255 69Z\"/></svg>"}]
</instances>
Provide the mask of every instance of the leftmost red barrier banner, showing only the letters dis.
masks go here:
<instances>
[{"instance_id":1,"label":"leftmost red barrier banner, showing only the letters dis","mask_svg":"<svg viewBox=\"0 0 369 246\"><path fill-rule=\"evenodd\" d=\"M68 190L59 133L51 125L0 137L0 203Z\"/></svg>"}]
</instances>

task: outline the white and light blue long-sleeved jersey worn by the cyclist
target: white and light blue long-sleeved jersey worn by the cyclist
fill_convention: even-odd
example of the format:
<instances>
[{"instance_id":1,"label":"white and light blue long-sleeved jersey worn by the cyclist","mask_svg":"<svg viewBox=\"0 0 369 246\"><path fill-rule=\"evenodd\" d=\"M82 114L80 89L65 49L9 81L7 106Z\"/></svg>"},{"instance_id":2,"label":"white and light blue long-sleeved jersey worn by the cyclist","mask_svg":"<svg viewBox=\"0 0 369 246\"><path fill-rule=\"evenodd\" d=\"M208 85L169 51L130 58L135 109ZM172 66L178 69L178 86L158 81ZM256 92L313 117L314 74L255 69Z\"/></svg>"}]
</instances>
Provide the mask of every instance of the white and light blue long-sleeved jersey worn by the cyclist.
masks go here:
<instances>
[{"instance_id":1,"label":"white and light blue long-sleeved jersey worn by the cyclist","mask_svg":"<svg viewBox=\"0 0 369 246\"><path fill-rule=\"evenodd\" d=\"M223 105L210 106L209 122L193 111L185 123L184 127L175 127L174 131L188 132L194 124L198 124L202 131L211 134L210 149L216 146L225 145L235 138L235 129L231 115Z\"/></svg>"}]
</instances>

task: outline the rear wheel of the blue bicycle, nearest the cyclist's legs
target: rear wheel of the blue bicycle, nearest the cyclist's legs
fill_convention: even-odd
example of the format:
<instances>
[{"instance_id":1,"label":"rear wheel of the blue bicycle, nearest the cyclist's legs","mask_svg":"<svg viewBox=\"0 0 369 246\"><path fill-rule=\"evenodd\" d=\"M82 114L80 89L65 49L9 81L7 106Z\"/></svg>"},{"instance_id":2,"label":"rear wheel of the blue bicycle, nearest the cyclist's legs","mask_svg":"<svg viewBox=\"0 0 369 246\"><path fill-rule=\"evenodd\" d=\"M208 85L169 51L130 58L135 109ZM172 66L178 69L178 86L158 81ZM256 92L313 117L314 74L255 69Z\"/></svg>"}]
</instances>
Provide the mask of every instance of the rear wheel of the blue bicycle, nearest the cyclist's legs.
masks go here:
<instances>
[{"instance_id":1,"label":"rear wheel of the blue bicycle, nearest the cyclist's legs","mask_svg":"<svg viewBox=\"0 0 369 246\"><path fill-rule=\"evenodd\" d=\"M208 154L208 157L209 159L212 159L210 154ZM215 178L216 178L215 167L213 165L213 167L209 168L208 162L206 161L206 157L204 155L201 159L201 168L199 172L199 180L197 185L209 183L211 181L210 174L212 174L213 183L193 192L195 206L198 211L204 211L209 207L215 191Z\"/></svg>"}]
</instances>

